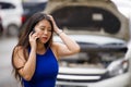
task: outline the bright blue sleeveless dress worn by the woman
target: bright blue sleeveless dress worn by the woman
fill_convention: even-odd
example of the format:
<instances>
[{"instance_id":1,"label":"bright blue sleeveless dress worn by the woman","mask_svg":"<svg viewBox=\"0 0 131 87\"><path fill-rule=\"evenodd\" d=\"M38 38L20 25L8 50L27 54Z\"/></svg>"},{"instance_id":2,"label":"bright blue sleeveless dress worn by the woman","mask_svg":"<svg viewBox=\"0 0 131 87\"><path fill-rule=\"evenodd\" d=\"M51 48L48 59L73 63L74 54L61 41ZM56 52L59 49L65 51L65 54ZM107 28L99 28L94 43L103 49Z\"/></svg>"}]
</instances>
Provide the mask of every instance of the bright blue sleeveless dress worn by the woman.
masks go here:
<instances>
[{"instance_id":1,"label":"bright blue sleeveless dress worn by the woman","mask_svg":"<svg viewBox=\"0 0 131 87\"><path fill-rule=\"evenodd\" d=\"M36 70L33 78L23 80L24 87L55 87L58 74L58 61L49 48L45 54L36 54Z\"/></svg>"}]
</instances>

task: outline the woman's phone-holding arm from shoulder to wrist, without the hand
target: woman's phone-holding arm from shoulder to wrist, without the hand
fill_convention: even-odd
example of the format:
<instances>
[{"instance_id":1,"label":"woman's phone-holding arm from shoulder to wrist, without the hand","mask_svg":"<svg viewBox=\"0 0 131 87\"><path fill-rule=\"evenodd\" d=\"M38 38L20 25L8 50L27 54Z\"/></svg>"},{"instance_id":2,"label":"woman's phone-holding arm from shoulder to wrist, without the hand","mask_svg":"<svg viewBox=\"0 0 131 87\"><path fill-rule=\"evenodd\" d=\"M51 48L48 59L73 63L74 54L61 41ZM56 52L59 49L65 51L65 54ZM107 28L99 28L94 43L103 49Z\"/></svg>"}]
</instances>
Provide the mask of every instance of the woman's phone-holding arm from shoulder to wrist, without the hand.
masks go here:
<instances>
[{"instance_id":1,"label":"woman's phone-holding arm from shoulder to wrist, without the hand","mask_svg":"<svg viewBox=\"0 0 131 87\"><path fill-rule=\"evenodd\" d=\"M28 60L25 60L24 57L24 49L23 48L16 48L14 50L14 65L19 72L19 74L26 80L31 80L33 77L33 74L35 72L35 65L36 65L36 54L35 49L31 50L31 53L28 55Z\"/></svg>"}]
</instances>

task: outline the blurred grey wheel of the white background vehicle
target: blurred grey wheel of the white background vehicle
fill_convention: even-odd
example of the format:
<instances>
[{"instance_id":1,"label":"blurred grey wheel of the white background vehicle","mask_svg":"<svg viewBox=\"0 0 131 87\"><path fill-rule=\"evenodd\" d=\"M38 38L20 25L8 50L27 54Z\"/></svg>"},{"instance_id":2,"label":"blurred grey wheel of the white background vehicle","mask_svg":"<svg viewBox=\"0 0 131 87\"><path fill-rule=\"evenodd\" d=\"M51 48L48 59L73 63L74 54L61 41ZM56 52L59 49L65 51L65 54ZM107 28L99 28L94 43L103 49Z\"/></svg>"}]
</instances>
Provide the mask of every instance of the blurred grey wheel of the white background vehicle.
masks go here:
<instances>
[{"instance_id":1,"label":"blurred grey wheel of the white background vehicle","mask_svg":"<svg viewBox=\"0 0 131 87\"><path fill-rule=\"evenodd\" d=\"M7 30L8 36L17 36L17 33L19 33L19 27L16 25L8 26L8 30Z\"/></svg>"}]
</instances>

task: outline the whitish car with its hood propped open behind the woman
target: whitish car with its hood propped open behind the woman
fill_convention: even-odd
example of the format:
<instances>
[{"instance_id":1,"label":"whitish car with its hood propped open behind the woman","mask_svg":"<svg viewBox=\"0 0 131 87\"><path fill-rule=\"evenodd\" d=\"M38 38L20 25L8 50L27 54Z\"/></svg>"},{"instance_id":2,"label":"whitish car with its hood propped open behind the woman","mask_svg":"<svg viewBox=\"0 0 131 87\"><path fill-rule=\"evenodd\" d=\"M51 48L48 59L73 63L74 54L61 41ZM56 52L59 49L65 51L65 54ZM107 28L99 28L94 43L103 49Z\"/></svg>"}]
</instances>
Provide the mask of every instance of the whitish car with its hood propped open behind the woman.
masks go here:
<instances>
[{"instance_id":1,"label":"whitish car with its hood propped open behind the woman","mask_svg":"<svg viewBox=\"0 0 131 87\"><path fill-rule=\"evenodd\" d=\"M45 13L81 47L59 60L57 87L130 85L129 18L110 0L49 0ZM55 41L61 41L55 36ZM68 40L68 39L67 39Z\"/></svg>"}]
</instances>

